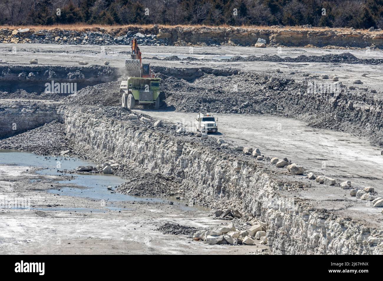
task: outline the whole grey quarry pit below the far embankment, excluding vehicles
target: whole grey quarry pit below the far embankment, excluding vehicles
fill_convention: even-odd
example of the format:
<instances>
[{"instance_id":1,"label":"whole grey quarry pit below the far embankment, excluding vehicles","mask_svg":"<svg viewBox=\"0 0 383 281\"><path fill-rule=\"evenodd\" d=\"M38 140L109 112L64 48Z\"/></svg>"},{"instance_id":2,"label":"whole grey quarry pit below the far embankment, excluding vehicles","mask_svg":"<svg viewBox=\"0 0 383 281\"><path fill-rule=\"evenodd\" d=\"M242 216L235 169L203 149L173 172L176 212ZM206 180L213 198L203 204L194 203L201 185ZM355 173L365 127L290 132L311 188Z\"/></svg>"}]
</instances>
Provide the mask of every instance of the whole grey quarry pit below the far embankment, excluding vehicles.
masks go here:
<instances>
[{"instance_id":1,"label":"whole grey quarry pit below the far embankment, excluding vehicles","mask_svg":"<svg viewBox=\"0 0 383 281\"><path fill-rule=\"evenodd\" d=\"M154 111L120 105L126 46L40 43L13 55L0 44L1 196L32 206L2 206L3 251L383 253L380 50L142 46L162 79ZM77 91L47 92L51 81ZM193 130L199 112L221 130ZM72 166L43 174L6 157L16 151ZM73 194L92 188L76 179L100 175L118 181L107 197Z\"/></svg>"}]
</instances>

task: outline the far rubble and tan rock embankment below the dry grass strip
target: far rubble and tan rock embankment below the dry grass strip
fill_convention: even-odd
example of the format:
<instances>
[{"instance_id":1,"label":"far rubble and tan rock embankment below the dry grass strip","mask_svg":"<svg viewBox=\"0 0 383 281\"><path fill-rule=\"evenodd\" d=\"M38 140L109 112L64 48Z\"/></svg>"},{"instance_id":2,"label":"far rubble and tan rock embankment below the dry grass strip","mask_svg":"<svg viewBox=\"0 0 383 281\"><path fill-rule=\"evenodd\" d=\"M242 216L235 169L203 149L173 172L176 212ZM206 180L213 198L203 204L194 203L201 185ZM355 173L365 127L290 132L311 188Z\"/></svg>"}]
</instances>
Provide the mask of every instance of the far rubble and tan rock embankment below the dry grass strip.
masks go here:
<instances>
[{"instance_id":1,"label":"far rubble and tan rock embankment below the dry grass strip","mask_svg":"<svg viewBox=\"0 0 383 281\"><path fill-rule=\"evenodd\" d=\"M65 29L0 29L3 43L49 44L130 44L139 39L144 45L240 45L254 46L258 38L268 45L294 47L383 47L383 32L355 29L271 27L162 27L139 26L92 28L72 31Z\"/></svg>"}]
</instances>

